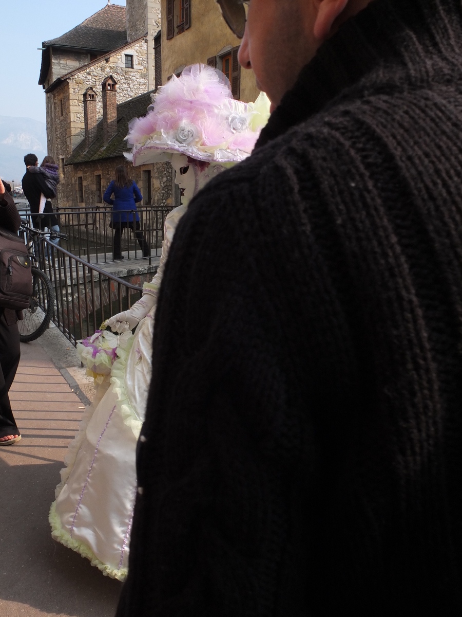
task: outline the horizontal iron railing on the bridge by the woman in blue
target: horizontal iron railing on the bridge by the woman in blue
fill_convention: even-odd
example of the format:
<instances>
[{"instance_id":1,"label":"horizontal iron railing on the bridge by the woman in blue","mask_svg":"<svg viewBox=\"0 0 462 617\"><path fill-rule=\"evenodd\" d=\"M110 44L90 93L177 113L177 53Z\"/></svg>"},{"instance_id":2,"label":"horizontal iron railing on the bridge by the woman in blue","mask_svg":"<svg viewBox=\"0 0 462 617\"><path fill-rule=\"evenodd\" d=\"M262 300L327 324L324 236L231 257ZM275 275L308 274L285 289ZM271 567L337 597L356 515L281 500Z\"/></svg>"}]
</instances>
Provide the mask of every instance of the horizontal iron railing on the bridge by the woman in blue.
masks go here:
<instances>
[{"instance_id":1,"label":"horizontal iron railing on the bridge by the woman in blue","mask_svg":"<svg viewBox=\"0 0 462 617\"><path fill-rule=\"evenodd\" d=\"M118 211L117 216L125 218L133 226L133 230L124 228L121 238L121 251L124 259L145 259L151 263L152 257L160 255L165 217L170 212L169 207L140 206L140 232L148 243L150 255L143 256L142 248L136 238L136 215L133 210ZM30 210L20 209L20 215L27 225L36 227L37 215L31 215ZM89 263L107 263L113 261L113 244L115 231L111 227L112 210L110 209L62 209L55 212L59 221L60 233L68 236L67 249L73 255ZM132 223L132 221L134 223Z\"/></svg>"}]
</instances>

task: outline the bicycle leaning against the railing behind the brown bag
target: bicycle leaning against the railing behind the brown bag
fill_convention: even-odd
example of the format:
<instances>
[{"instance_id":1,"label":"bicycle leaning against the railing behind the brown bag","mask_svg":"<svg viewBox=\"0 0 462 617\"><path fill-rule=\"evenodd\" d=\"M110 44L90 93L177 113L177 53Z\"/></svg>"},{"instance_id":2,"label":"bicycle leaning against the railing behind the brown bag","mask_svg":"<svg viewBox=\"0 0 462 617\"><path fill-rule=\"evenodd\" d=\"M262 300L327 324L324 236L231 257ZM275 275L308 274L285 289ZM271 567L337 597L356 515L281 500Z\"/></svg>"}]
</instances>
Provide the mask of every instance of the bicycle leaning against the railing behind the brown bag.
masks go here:
<instances>
[{"instance_id":1,"label":"bicycle leaning against the railing behind the brown bag","mask_svg":"<svg viewBox=\"0 0 462 617\"><path fill-rule=\"evenodd\" d=\"M35 264L31 267L32 273L32 296L28 309L23 310L23 319L18 321L19 339L21 342L31 342L38 339L50 325L53 317L55 305L55 293L49 277L38 268L39 254L41 247L39 242L44 243L45 238L54 240L56 238L67 239L65 234L55 231L39 231L25 223L22 223L20 231L30 236L27 242L27 250L31 261ZM41 238L39 238L41 236Z\"/></svg>"}]
</instances>

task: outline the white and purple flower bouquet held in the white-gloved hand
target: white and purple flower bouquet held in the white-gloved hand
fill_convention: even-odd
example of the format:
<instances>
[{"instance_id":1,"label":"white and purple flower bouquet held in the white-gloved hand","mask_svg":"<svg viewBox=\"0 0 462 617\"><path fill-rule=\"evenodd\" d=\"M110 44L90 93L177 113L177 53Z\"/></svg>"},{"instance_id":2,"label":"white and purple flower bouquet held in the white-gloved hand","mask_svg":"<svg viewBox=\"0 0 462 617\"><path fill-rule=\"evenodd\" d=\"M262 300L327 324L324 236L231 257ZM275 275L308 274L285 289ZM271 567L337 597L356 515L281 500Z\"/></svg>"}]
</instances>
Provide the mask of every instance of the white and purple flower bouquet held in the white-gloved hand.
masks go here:
<instances>
[{"instance_id":1,"label":"white and purple flower bouquet held in the white-gloved hand","mask_svg":"<svg viewBox=\"0 0 462 617\"><path fill-rule=\"evenodd\" d=\"M92 336L77 344L77 353L81 363L86 366L87 375L95 382L102 383L118 357L118 349L124 349L133 334L131 331L114 334L108 330L96 330Z\"/></svg>"}]
</instances>

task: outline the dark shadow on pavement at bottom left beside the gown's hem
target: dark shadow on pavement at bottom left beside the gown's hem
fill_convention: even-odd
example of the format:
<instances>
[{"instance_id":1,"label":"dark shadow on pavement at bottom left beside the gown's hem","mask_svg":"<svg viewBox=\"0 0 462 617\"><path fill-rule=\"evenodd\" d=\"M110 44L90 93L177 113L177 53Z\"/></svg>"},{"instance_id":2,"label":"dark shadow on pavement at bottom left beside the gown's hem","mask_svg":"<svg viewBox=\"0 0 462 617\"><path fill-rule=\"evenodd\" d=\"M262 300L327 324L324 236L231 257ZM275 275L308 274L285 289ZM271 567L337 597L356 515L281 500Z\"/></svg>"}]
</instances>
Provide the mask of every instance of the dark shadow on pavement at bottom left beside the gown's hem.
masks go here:
<instances>
[{"instance_id":1,"label":"dark shadow on pavement at bottom left beside the gown's hem","mask_svg":"<svg viewBox=\"0 0 462 617\"><path fill-rule=\"evenodd\" d=\"M112 617L121 583L51 537L48 512L62 463L9 465L7 459L0 458L0 605L28 605L31 610L21 614L31 616L35 608L72 617Z\"/></svg>"}]
</instances>

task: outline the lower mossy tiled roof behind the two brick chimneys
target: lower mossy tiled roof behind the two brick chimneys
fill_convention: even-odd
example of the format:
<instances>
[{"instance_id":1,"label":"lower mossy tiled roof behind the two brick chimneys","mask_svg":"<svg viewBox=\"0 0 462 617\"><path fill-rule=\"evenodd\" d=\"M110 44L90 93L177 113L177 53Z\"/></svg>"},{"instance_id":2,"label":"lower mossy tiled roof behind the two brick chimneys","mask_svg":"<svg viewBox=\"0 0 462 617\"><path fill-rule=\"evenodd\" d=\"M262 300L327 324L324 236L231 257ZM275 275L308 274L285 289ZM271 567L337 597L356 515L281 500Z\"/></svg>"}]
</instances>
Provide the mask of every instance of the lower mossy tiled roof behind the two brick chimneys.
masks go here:
<instances>
[{"instance_id":1,"label":"lower mossy tiled roof behind the two brick chimneys","mask_svg":"<svg viewBox=\"0 0 462 617\"><path fill-rule=\"evenodd\" d=\"M153 90L151 92L154 92ZM132 118L139 118L147 114L148 106L151 104L151 92L140 94L140 96L120 103L117 106L117 132L107 146L103 145L103 121L100 120L96 130L96 138L87 152L85 152L85 139L76 146L66 161L66 165L76 163L87 163L92 160L113 159L123 156L124 152L129 152L130 147L125 141L128 133L128 123Z\"/></svg>"}]
</instances>

